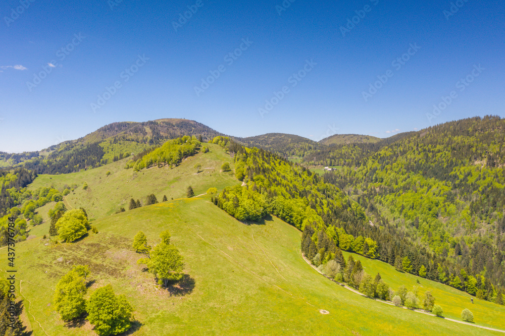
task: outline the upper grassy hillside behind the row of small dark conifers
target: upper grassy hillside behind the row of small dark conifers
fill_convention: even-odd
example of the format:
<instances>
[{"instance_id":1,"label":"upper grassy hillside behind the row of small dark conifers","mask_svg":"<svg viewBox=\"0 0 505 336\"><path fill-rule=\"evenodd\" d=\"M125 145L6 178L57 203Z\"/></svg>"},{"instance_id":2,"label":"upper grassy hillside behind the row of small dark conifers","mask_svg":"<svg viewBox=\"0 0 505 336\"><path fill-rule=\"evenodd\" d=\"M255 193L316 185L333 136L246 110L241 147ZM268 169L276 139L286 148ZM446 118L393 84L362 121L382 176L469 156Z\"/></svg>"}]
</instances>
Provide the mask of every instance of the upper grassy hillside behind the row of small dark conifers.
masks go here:
<instances>
[{"instance_id":1,"label":"upper grassy hillside behind the row of small dark conifers","mask_svg":"<svg viewBox=\"0 0 505 336\"><path fill-rule=\"evenodd\" d=\"M124 169L128 158L107 164L95 169L63 175L39 175L28 187L35 190L38 187L54 186L62 189L65 185L77 184L74 192L65 197L67 208L84 207L89 218L100 218L110 215L120 207L128 209L130 198L140 199L145 204L145 197L154 193L161 201L163 195L168 199L186 196L186 188L192 186L195 195L203 194L210 187L223 189L238 184L232 173L220 172L223 162L229 162L233 169L233 159L216 144L202 144L209 147L210 152L190 156L173 169L168 165L141 170L134 173L133 169ZM198 174L195 163L201 164ZM111 175L107 176L110 171ZM82 189L84 183L88 188ZM43 209L38 209L44 219L50 203Z\"/></svg>"}]
</instances>

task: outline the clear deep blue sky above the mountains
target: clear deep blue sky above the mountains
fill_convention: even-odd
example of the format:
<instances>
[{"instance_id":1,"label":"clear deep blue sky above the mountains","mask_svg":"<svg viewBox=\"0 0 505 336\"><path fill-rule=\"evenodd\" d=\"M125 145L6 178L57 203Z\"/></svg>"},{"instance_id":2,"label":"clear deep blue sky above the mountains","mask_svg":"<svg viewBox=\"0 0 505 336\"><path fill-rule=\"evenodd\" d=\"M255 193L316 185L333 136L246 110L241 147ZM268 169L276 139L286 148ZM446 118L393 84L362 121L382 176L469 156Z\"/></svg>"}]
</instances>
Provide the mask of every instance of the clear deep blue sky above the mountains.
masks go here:
<instances>
[{"instance_id":1,"label":"clear deep blue sky above the mountains","mask_svg":"<svg viewBox=\"0 0 505 336\"><path fill-rule=\"evenodd\" d=\"M505 116L505 15L497 1L459 0L452 12L450 1L22 4L0 5L2 151L160 118L241 137L319 140ZM211 71L219 77L207 88L202 79ZM442 97L447 104L435 115ZM261 114L272 107L266 100L276 104Z\"/></svg>"}]
</instances>

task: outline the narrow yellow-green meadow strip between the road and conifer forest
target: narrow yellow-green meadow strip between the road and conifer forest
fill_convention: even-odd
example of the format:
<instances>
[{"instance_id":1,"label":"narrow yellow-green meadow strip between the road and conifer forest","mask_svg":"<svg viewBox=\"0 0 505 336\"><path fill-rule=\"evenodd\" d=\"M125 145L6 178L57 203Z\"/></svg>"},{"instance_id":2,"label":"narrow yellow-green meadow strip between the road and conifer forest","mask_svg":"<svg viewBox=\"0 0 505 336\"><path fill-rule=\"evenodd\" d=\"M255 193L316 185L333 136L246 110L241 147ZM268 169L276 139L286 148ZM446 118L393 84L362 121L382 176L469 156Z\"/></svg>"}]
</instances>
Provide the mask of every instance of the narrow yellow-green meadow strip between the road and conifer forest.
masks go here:
<instances>
[{"instance_id":1,"label":"narrow yellow-green meadow strip between the road and conifer forest","mask_svg":"<svg viewBox=\"0 0 505 336\"><path fill-rule=\"evenodd\" d=\"M500 306L489 301L477 300L477 298L468 293L459 291L455 288L445 286L434 281L406 273L397 271L388 263L365 258L361 255L349 252L343 252L347 260L349 254L352 257L360 260L363 269L372 276L380 273L384 282L389 284L393 290L397 290L401 285L407 286L407 290L411 291L413 286L418 286L419 297L424 298L426 291L431 291L431 294L436 299L438 304L443 309L443 316L461 321L461 311L468 308L474 315L476 324L505 330L505 306ZM417 284L417 280L421 284ZM474 299L472 304L470 299ZM483 331L481 331L483 332Z\"/></svg>"}]
</instances>

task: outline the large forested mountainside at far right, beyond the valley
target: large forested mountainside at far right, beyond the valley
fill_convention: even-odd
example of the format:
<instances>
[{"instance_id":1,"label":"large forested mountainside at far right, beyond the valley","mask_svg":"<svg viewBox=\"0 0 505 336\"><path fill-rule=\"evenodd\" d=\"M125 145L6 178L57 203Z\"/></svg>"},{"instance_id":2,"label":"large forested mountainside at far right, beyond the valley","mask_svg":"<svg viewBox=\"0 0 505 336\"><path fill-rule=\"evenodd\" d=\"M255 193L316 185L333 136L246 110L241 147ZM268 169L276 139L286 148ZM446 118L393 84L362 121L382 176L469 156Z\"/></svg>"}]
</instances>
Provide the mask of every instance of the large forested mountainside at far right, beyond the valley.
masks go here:
<instances>
[{"instance_id":1,"label":"large forested mountainside at far right, beyond the valley","mask_svg":"<svg viewBox=\"0 0 505 336\"><path fill-rule=\"evenodd\" d=\"M400 239L445 259L437 281L468 291L468 274L479 274L490 281L480 296L491 300L491 283L505 284L504 143L505 120L460 120L410 134L331 180L375 225L397 227Z\"/></svg>"}]
</instances>

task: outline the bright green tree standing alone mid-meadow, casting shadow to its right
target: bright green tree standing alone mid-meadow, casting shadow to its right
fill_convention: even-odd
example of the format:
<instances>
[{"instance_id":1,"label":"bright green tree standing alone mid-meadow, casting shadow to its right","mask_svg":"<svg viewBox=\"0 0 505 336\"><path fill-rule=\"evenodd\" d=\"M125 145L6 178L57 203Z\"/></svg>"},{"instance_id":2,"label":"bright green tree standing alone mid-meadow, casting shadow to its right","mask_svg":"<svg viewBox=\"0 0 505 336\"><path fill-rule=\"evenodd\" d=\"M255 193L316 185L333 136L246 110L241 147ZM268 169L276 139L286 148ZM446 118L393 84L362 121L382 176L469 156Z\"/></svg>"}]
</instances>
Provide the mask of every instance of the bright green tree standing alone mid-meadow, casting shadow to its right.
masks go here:
<instances>
[{"instance_id":1,"label":"bright green tree standing alone mid-meadow, casting shadow to its right","mask_svg":"<svg viewBox=\"0 0 505 336\"><path fill-rule=\"evenodd\" d=\"M179 250L165 242L156 245L149 259L140 259L137 262L146 264L149 272L165 287L171 281L179 281L183 275L184 261Z\"/></svg>"}]
</instances>

